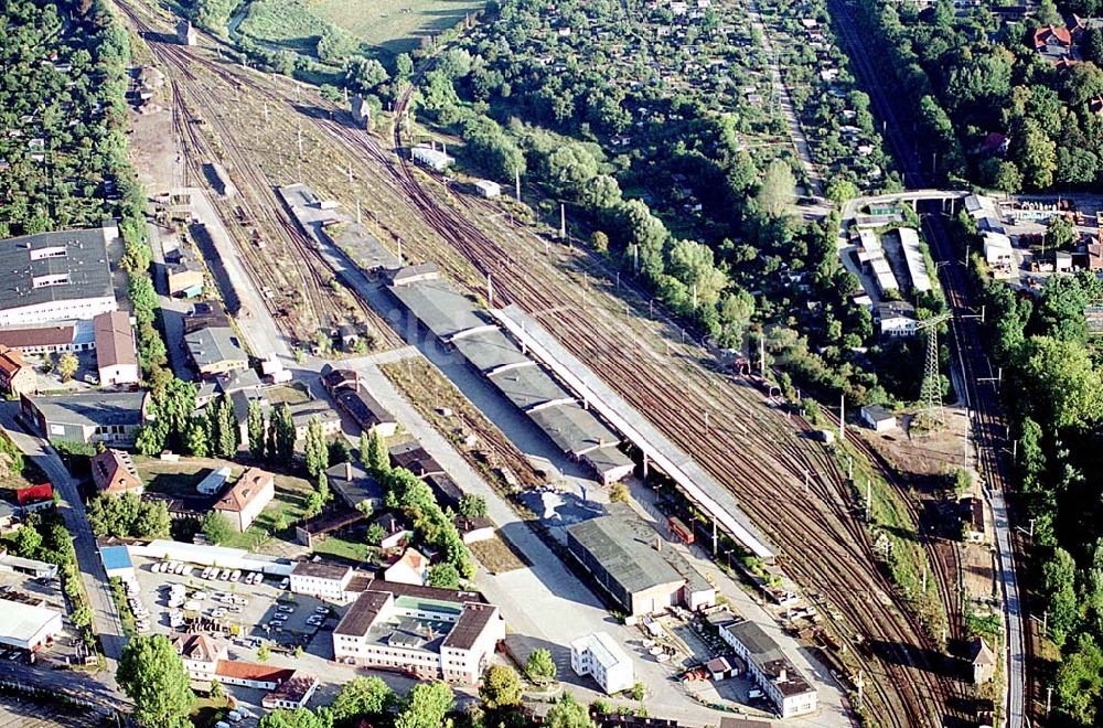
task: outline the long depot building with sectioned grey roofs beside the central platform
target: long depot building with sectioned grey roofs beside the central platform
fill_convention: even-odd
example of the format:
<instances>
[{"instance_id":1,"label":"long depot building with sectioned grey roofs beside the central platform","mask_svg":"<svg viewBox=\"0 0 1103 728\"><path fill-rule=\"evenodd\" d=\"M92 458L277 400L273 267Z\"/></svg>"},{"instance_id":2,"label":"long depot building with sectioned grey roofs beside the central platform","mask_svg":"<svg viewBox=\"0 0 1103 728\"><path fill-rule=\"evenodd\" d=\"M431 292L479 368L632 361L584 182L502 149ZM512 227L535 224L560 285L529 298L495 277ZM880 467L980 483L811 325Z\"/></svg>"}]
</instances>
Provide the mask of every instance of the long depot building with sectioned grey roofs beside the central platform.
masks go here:
<instances>
[{"instance_id":1,"label":"long depot building with sectioned grey roofs beside the central platform","mask_svg":"<svg viewBox=\"0 0 1103 728\"><path fill-rule=\"evenodd\" d=\"M415 282L401 283L413 278ZM392 293L446 344L536 425L557 448L613 483L634 463L618 446L621 438L527 356L489 317L443 280L394 276Z\"/></svg>"}]
</instances>

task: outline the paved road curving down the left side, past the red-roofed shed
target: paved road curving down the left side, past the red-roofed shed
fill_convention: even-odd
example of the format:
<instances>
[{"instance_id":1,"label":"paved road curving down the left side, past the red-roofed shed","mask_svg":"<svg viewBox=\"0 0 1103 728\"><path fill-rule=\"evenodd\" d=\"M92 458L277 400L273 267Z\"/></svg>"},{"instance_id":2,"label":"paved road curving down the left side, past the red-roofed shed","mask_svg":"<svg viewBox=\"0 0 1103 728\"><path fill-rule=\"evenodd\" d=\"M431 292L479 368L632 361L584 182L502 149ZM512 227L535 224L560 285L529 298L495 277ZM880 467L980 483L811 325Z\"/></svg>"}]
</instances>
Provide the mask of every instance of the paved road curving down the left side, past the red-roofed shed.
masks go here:
<instances>
[{"instance_id":1,"label":"paved road curving down the left side, past the red-roofed shed","mask_svg":"<svg viewBox=\"0 0 1103 728\"><path fill-rule=\"evenodd\" d=\"M57 508L61 511L62 517L65 518L68 532L73 535L73 546L76 549L77 564L81 567L81 578L84 580L84 587L88 592L88 600L93 609L93 624L100 636L104 653L107 655L107 671L100 673L99 678L110 690L117 690L118 687L115 683L116 661L122 654L127 638L122 634L122 623L119 621L115 600L111 598L107 574L99 560L96 538L88 525L84 501L81 500L76 481L69 477L53 448L39 438L28 435L22 425L15 420L18 411L19 403L2 403L0 405L0 427L8 431L23 454L42 468L46 477L50 478L50 482L53 483L54 490L61 495L62 500Z\"/></svg>"}]
</instances>

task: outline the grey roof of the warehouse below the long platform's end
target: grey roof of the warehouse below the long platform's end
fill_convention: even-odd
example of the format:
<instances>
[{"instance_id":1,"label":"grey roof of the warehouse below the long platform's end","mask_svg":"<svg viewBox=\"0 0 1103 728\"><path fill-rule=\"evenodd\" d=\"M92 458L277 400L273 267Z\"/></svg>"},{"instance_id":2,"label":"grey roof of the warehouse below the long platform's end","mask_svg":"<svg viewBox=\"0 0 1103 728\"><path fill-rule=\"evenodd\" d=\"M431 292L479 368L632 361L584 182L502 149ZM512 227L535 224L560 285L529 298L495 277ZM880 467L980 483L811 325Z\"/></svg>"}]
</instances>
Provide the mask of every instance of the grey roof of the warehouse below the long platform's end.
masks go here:
<instances>
[{"instance_id":1,"label":"grey roof of the warehouse below the long platform's end","mask_svg":"<svg viewBox=\"0 0 1103 728\"><path fill-rule=\"evenodd\" d=\"M646 538L640 532L625 533L624 521L624 514L618 512L567 526L567 533L629 593L682 581L652 547L658 533L652 529Z\"/></svg>"}]
</instances>

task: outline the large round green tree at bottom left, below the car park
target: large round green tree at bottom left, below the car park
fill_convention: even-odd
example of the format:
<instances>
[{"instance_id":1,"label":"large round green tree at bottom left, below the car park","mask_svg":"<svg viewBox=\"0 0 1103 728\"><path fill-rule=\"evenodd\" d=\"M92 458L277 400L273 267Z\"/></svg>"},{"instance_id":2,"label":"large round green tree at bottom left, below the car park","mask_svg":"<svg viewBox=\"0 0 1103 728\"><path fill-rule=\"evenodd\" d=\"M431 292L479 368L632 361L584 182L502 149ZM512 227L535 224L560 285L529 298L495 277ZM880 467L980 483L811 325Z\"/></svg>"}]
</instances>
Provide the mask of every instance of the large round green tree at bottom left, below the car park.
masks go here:
<instances>
[{"instance_id":1,"label":"large round green tree at bottom left, below the car park","mask_svg":"<svg viewBox=\"0 0 1103 728\"><path fill-rule=\"evenodd\" d=\"M195 699L184 663L162 634L138 635L127 643L116 674L133 700L133 718L144 726L184 728Z\"/></svg>"}]
</instances>

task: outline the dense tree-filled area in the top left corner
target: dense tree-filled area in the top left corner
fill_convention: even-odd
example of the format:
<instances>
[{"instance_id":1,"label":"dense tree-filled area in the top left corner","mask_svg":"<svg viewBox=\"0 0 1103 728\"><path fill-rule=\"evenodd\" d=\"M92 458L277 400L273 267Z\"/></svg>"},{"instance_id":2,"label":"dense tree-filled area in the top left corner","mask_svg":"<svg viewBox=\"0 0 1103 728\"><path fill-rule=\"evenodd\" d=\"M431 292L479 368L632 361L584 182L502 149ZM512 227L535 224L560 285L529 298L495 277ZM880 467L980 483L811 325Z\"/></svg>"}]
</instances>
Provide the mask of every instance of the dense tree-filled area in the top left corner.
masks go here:
<instances>
[{"instance_id":1,"label":"dense tree-filled area in the top left corner","mask_svg":"<svg viewBox=\"0 0 1103 728\"><path fill-rule=\"evenodd\" d=\"M126 158L128 53L98 2L0 8L0 237L143 204Z\"/></svg>"}]
</instances>

